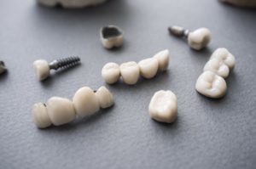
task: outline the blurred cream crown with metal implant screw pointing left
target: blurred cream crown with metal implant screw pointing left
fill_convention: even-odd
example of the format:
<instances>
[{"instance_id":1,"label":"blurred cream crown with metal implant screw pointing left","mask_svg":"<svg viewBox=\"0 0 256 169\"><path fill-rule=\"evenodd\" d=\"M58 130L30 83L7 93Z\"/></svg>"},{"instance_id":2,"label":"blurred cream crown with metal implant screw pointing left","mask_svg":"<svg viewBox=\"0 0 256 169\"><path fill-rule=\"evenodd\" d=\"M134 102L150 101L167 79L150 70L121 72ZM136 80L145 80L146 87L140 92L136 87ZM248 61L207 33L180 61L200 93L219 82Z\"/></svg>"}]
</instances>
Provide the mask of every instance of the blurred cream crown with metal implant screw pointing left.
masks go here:
<instances>
[{"instance_id":1,"label":"blurred cream crown with metal implant screw pointing left","mask_svg":"<svg viewBox=\"0 0 256 169\"><path fill-rule=\"evenodd\" d=\"M183 27L173 25L168 28L169 32L176 37L185 37L188 40L189 47L195 50L201 50L207 47L211 41L211 31L201 27L195 31L185 30Z\"/></svg>"}]
</instances>

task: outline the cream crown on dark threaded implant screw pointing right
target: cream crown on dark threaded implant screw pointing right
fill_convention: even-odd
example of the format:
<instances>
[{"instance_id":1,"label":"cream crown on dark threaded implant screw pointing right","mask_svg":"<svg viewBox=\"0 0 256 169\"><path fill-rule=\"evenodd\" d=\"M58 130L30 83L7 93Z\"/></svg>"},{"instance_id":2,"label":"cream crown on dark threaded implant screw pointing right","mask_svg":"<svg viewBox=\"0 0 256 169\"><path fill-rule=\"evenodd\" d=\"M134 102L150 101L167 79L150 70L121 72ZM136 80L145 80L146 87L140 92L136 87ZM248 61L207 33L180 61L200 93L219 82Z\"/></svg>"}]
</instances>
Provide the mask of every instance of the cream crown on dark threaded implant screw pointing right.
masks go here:
<instances>
[{"instance_id":1,"label":"cream crown on dark threaded implant screw pointing right","mask_svg":"<svg viewBox=\"0 0 256 169\"><path fill-rule=\"evenodd\" d=\"M44 59L38 59L34 61L33 66L36 70L38 80L43 81L49 76L49 70L58 70L60 68L68 68L74 65L78 65L80 59L77 56L72 56L64 59L55 59L48 63Z\"/></svg>"}]
</instances>

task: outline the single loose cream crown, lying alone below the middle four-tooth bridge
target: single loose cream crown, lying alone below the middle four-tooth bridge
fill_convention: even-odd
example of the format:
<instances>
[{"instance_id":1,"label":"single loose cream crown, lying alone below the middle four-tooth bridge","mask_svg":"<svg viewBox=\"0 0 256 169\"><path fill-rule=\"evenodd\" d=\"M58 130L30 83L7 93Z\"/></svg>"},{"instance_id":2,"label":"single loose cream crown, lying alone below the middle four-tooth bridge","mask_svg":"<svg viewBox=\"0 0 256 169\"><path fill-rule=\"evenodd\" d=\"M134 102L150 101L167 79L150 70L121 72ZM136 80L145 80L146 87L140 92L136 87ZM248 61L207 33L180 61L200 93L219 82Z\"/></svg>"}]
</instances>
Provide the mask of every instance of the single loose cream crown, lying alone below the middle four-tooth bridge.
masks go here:
<instances>
[{"instance_id":1,"label":"single loose cream crown, lying alone below the middle four-tooth bridge","mask_svg":"<svg viewBox=\"0 0 256 169\"><path fill-rule=\"evenodd\" d=\"M170 90L160 90L154 93L148 110L155 121L172 123L177 118L177 97Z\"/></svg>"}]
</instances>

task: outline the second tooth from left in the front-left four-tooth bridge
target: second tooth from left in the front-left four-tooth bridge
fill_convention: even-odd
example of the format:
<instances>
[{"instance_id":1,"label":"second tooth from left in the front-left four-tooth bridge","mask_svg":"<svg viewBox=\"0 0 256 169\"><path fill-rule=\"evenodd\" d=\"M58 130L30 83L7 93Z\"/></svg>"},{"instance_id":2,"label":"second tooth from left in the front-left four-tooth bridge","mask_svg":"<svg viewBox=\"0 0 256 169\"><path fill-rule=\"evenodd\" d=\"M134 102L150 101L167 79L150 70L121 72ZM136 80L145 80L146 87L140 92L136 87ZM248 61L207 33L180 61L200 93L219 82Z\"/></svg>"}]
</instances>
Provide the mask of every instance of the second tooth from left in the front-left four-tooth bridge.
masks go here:
<instances>
[{"instance_id":1,"label":"second tooth from left in the front-left four-tooth bridge","mask_svg":"<svg viewBox=\"0 0 256 169\"><path fill-rule=\"evenodd\" d=\"M50 121L55 126L60 126L73 121L76 112L72 101L60 97L52 97L46 103Z\"/></svg>"}]
</instances>

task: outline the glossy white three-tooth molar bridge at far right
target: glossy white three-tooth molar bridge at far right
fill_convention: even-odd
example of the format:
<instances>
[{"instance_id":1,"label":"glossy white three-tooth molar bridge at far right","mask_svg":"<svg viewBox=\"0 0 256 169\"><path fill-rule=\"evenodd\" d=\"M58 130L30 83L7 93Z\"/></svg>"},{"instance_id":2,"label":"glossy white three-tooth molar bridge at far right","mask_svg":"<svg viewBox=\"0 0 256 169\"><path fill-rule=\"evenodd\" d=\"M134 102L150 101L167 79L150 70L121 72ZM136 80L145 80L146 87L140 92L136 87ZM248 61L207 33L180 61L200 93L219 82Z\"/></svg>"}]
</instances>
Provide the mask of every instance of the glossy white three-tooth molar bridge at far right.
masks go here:
<instances>
[{"instance_id":1,"label":"glossy white three-tooth molar bridge at far right","mask_svg":"<svg viewBox=\"0 0 256 169\"><path fill-rule=\"evenodd\" d=\"M226 48L215 50L195 83L196 91L212 99L223 97L227 91L224 78L229 76L235 63L235 57Z\"/></svg>"}]
</instances>

